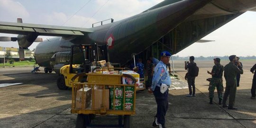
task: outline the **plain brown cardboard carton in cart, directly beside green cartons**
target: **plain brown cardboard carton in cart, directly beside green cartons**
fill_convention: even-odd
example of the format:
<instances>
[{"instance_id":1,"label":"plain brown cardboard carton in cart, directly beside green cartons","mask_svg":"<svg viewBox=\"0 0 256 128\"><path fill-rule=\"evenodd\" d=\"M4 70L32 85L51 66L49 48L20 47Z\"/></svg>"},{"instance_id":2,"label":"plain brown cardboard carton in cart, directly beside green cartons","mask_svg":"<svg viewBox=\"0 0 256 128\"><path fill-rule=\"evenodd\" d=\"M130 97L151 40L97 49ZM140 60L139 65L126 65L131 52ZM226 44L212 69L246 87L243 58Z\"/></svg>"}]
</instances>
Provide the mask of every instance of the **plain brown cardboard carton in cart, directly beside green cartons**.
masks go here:
<instances>
[{"instance_id":1,"label":"plain brown cardboard carton in cart, directly beside green cartons","mask_svg":"<svg viewBox=\"0 0 256 128\"><path fill-rule=\"evenodd\" d=\"M105 89L105 98L103 100L103 89L95 89L94 107L92 109L100 110L103 106L106 108L106 110L110 109L110 90Z\"/></svg>"}]
</instances>

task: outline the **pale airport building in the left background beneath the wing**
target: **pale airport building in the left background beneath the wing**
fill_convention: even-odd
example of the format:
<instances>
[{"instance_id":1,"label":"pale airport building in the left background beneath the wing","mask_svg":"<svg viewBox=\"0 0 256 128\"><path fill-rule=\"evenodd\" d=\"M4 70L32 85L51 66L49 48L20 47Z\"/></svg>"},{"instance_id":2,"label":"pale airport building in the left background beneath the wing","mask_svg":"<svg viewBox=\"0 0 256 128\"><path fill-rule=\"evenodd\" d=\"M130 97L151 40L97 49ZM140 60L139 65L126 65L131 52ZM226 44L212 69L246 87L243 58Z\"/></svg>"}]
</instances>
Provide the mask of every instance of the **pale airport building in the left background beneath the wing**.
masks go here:
<instances>
[{"instance_id":1,"label":"pale airport building in the left background beneath the wing","mask_svg":"<svg viewBox=\"0 0 256 128\"><path fill-rule=\"evenodd\" d=\"M12 57L9 58L13 59L15 62L19 61L19 54L18 54L18 48L14 48L14 47L1 47L0 46L0 63L4 63L4 55L5 55L5 51L9 50ZM31 58L34 58L34 51L30 51L30 50L24 50L25 52L25 60L30 60ZM7 59L5 58L5 62L7 62Z\"/></svg>"}]
</instances>

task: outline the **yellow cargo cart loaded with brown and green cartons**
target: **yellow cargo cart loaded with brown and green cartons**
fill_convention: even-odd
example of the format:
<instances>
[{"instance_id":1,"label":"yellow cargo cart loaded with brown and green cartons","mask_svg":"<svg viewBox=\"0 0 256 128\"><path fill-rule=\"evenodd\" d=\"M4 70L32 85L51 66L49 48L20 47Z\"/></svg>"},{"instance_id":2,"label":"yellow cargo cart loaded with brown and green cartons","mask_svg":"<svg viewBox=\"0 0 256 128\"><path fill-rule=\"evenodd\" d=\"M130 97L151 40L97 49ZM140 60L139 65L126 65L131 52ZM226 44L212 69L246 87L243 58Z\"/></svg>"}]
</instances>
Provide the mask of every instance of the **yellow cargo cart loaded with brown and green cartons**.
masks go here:
<instances>
[{"instance_id":1,"label":"yellow cargo cart loaded with brown and green cartons","mask_svg":"<svg viewBox=\"0 0 256 128\"><path fill-rule=\"evenodd\" d=\"M85 77L87 82L79 82ZM134 84L122 84L123 78L131 79ZM118 115L119 124L113 126L131 128L136 103L136 79L132 75L78 73L71 80L71 113L78 114L76 128L93 126L91 119L95 115Z\"/></svg>"}]
</instances>

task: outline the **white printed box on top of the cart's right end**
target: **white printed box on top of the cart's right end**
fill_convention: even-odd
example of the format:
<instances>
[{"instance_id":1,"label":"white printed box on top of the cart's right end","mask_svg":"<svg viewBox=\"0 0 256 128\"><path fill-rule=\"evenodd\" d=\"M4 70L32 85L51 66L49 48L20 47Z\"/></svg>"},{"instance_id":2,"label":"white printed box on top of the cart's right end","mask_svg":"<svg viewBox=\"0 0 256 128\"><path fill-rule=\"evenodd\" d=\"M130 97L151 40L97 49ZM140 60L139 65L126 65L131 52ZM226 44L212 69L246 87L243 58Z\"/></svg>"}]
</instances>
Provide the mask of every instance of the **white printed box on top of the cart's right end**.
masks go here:
<instances>
[{"instance_id":1,"label":"white printed box on top of the cart's right end","mask_svg":"<svg viewBox=\"0 0 256 128\"><path fill-rule=\"evenodd\" d=\"M138 89L138 87L139 87L139 74L138 73L131 71L131 70L120 71L120 73L132 75L136 79L136 88ZM133 81L128 77L122 77L122 83L123 84L134 84Z\"/></svg>"}]
</instances>

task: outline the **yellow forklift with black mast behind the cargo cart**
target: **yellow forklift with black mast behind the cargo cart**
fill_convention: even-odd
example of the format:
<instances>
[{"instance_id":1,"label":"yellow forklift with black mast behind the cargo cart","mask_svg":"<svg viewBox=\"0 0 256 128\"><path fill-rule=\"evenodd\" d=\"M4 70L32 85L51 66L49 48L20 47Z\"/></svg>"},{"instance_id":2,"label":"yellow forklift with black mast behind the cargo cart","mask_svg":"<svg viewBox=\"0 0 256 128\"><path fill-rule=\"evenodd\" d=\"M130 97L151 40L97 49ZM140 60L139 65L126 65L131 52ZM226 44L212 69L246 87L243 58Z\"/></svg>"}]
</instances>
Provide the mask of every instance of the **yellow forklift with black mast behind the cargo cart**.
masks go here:
<instances>
[{"instance_id":1,"label":"yellow forklift with black mast behind the cargo cart","mask_svg":"<svg viewBox=\"0 0 256 128\"><path fill-rule=\"evenodd\" d=\"M92 43L90 45L71 46L69 64L60 68L60 76L57 79L57 86L60 90L67 90L72 87L71 79L77 73L89 73L91 71L91 63L99 60L98 48L101 50L101 58L108 61L107 45L97 46L96 43ZM80 78L77 81L86 82L86 78Z\"/></svg>"}]
</instances>

